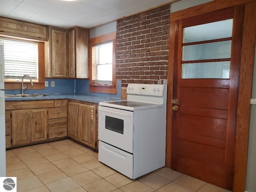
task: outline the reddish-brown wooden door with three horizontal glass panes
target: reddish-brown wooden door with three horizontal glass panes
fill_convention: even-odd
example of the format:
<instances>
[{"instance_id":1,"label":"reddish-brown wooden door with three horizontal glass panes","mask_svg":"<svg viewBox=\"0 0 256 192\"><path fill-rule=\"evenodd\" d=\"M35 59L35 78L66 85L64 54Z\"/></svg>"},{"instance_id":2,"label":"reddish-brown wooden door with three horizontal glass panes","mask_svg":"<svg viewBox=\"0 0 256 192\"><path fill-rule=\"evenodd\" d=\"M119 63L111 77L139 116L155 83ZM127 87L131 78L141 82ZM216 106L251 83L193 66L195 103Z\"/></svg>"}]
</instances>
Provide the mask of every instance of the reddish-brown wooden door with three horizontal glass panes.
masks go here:
<instances>
[{"instance_id":1,"label":"reddish-brown wooden door with three horizontal glass panes","mask_svg":"<svg viewBox=\"0 0 256 192\"><path fill-rule=\"evenodd\" d=\"M173 98L178 99L172 100L178 110L174 107L172 113L171 168L227 189L233 184L243 17L244 7L239 6L171 22ZM230 36L221 31L226 24L223 28L207 25L190 36L192 26L223 20L232 20ZM214 32L216 38L208 39L215 29L220 29Z\"/></svg>"}]
</instances>

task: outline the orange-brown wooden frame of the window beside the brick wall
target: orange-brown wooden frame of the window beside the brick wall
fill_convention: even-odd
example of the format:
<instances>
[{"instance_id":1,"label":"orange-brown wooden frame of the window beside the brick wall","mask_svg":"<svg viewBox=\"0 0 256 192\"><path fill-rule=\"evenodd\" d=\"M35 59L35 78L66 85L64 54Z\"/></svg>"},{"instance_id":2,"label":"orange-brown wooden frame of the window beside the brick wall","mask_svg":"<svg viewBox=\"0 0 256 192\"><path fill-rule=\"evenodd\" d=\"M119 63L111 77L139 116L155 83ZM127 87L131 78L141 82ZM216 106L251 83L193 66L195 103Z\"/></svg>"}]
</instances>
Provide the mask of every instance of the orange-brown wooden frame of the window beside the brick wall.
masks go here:
<instances>
[{"instance_id":1,"label":"orange-brown wooden frame of the window beside the brick wall","mask_svg":"<svg viewBox=\"0 0 256 192\"><path fill-rule=\"evenodd\" d=\"M113 63L112 63L112 84L111 85L100 85L100 84L94 84L93 83L93 72L92 72L92 50L93 46L113 41ZM90 38L89 40L89 79L90 79L90 92L96 92L96 93L108 93L108 94L116 94L116 31L101 35L98 37Z\"/></svg>"}]
</instances>

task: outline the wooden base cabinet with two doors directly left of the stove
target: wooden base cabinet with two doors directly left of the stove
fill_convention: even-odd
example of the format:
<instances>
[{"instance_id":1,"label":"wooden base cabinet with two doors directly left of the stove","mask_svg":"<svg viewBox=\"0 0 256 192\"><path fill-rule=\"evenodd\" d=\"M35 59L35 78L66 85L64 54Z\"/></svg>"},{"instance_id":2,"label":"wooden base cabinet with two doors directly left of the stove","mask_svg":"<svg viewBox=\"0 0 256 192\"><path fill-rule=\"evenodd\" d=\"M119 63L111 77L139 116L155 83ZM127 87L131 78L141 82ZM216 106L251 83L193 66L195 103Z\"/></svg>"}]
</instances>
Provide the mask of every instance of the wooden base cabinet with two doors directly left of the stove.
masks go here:
<instances>
[{"instance_id":1,"label":"wooden base cabinet with two doors directly left of the stove","mask_svg":"<svg viewBox=\"0 0 256 192\"><path fill-rule=\"evenodd\" d=\"M68 136L96 149L96 104L70 100Z\"/></svg>"}]
</instances>

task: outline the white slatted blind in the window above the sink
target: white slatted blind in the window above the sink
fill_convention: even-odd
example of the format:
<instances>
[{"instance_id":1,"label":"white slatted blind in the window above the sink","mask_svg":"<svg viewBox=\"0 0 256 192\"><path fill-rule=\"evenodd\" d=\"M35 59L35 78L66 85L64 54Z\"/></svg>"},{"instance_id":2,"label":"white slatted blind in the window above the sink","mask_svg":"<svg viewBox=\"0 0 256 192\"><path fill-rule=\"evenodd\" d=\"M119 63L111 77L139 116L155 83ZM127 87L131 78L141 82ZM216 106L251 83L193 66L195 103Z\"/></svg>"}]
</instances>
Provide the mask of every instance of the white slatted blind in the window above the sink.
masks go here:
<instances>
[{"instance_id":1,"label":"white slatted blind in the window above the sink","mask_svg":"<svg viewBox=\"0 0 256 192\"><path fill-rule=\"evenodd\" d=\"M4 44L4 78L20 80L24 74L38 79L38 44L0 38Z\"/></svg>"}]
</instances>

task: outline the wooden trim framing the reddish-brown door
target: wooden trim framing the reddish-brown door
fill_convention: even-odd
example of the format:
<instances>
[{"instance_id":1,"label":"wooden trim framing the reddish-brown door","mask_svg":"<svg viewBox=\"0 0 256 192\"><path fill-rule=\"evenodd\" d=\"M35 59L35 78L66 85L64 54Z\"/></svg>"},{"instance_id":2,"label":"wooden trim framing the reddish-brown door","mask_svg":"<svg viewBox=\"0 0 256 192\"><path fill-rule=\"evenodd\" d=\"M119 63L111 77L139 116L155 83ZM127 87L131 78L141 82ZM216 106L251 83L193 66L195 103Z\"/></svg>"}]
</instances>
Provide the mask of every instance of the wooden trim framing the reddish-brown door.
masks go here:
<instances>
[{"instance_id":1,"label":"wooden trim framing the reddish-brown door","mask_svg":"<svg viewBox=\"0 0 256 192\"><path fill-rule=\"evenodd\" d=\"M178 30L178 19L197 16L209 13L230 6L245 5L244 32L241 51L240 83L238 93L237 127L236 127L236 151L235 151L235 172L233 192L245 190L246 166L248 156L248 136L250 124L250 99L252 93L252 76L254 67L254 52L256 40L256 0L215 0L178 12L170 14L170 46L169 46L169 68L168 68L168 92L167 98L170 101L173 96L173 75L175 55L177 51L176 33ZM167 124L166 124L166 166L171 166L171 138L172 138L172 104L167 102Z\"/></svg>"}]
</instances>

